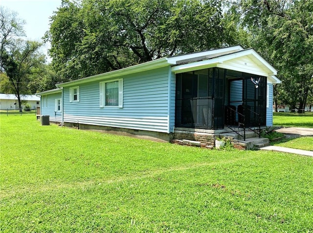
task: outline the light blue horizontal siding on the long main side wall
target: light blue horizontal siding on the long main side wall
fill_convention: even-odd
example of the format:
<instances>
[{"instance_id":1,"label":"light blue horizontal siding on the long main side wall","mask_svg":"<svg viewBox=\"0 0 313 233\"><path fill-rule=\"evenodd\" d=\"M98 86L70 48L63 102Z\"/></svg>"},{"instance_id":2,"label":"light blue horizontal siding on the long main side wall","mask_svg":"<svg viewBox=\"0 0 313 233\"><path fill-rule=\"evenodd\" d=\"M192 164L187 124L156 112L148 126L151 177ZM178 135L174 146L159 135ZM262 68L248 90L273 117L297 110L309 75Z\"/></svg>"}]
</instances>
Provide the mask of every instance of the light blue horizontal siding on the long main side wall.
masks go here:
<instances>
[{"instance_id":1,"label":"light blue horizontal siding on the long main side wall","mask_svg":"<svg viewBox=\"0 0 313 233\"><path fill-rule=\"evenodd\" d=\"M123 78L122 108L100 107L99 82L110 79L79 85L79 102L70 103L64 87L64 122L168 132L168 76L164 67L118 77Z\"/></svg>"}]
</instances>

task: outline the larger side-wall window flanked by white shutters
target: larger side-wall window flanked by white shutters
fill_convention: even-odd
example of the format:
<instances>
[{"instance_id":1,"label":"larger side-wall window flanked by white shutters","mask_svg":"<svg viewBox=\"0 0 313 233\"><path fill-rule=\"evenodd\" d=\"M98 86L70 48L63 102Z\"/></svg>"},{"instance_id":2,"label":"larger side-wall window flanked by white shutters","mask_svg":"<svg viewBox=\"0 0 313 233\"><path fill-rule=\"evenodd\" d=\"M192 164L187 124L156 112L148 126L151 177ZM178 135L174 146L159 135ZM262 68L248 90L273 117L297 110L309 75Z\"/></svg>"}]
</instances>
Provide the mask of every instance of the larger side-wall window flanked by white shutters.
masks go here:
<instances>
[{"instance_id":1,"label":"larger side-wall window flanked by white shutters","mask_svg":"<svg viewBox=\"0 0 313 233\"><path fill-rule=\"evenodd\" d=\"M100 107L123 107L123 79L100 82Z\"/></svg>"}]
</instances>

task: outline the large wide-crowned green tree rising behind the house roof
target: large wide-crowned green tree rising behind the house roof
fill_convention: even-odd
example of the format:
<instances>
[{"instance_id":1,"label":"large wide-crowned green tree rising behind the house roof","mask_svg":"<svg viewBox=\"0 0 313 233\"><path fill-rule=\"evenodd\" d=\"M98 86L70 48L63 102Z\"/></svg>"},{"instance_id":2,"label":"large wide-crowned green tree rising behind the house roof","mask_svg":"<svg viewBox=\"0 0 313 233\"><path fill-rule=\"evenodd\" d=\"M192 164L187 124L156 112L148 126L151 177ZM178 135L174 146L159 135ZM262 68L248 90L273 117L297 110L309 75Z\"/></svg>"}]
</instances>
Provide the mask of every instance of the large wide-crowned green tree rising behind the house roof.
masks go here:
<instances>
[{"instance_id":1,"label":"large wide-crowned green tree rising behind the house roof","mask_svg":"<svg viewBox=\"0 0 313 233\"><path fill-rule=\"evenodd\" d=\"M67 81L232 44L222 13L219 0L63 0L45 40Z\"/></svg>"}]
</instances>

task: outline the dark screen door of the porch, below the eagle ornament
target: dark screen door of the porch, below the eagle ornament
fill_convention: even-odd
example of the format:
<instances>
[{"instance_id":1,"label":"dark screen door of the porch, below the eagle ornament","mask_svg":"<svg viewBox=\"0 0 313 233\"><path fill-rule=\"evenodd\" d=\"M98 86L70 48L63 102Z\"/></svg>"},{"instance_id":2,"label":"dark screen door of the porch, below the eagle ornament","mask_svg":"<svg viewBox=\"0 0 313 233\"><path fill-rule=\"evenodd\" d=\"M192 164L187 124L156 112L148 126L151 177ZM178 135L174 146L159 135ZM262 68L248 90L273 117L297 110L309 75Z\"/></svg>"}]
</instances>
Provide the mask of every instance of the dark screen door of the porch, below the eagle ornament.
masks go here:
<instances>
[{"instance_id":1,"label":"dark screen door of the porch, below the eagle ornament","mask_svg":"<svg viewBox=\"0 0 313 233\"><path fill-rule=\"evenodd\" d=\"M258 87L251 81L259 80ZM266 97L267 97L267 78L250 74L245 74L243 78L243 105L246 108L246 126L256 127L266 125Z\"/></svg>"}]
</instances>

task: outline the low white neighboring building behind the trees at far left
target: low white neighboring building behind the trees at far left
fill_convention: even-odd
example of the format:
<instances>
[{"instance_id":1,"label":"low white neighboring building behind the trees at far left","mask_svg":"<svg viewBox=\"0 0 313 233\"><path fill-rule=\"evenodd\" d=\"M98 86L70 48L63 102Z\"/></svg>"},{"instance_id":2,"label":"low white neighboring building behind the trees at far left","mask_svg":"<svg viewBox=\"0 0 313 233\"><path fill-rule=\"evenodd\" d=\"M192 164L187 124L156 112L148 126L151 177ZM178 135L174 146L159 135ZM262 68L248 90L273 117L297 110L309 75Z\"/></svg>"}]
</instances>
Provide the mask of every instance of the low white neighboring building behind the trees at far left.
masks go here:
<instances>
[{"instance_id":1,"label":"low white neighboring building behind the trees at far left","mask_svg":"<svg viewBox=\"0 0 313 233\"><path fill-rule=\"evenodd\" d=\"M21 100L30 104L33 110L40 106L40 97L36 95L21 95ZM19 109L18 98L14 94L0 94L0 110L15 109Z\"/></svg>"}]
</instances>

